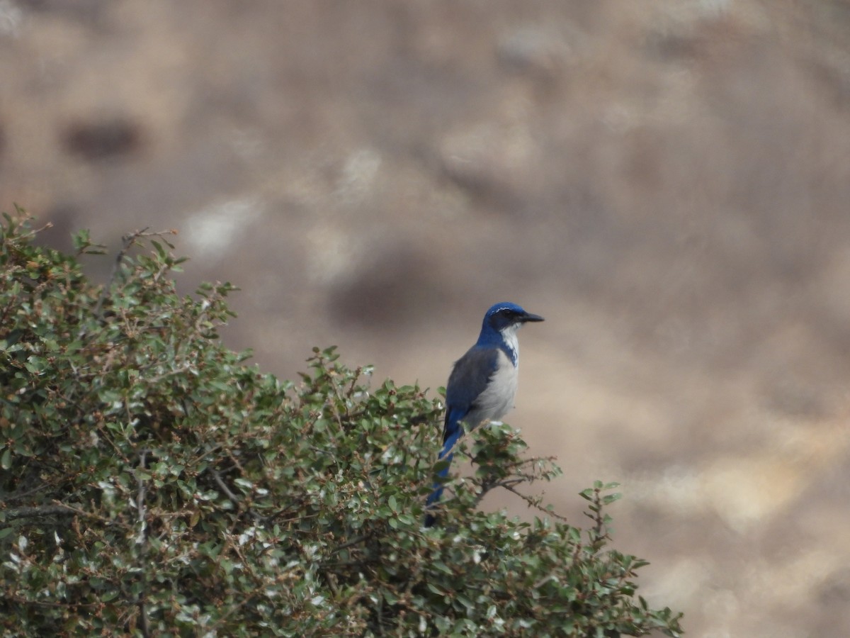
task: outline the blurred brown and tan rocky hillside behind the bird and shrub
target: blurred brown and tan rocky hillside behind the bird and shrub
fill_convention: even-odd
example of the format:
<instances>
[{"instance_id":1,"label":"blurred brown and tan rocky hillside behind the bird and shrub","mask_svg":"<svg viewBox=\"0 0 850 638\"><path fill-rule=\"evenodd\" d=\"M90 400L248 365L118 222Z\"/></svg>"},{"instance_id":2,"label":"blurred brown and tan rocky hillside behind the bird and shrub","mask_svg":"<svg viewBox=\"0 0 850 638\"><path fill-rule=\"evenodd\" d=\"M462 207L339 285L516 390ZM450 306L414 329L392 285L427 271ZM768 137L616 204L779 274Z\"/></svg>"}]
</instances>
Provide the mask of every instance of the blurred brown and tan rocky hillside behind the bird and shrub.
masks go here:
<instances>
[{"instance_id":1,"label":"blurred brown and tan rocky hillside behind the bird and shrub","mask_svg":"<svg viewBox=\"0 0 850 638\"><path fill-rule=\"evenodd\" d=\"M621 481L689 635L850 635L848 0L0 0L14 202L58 248L178 229L287 378L435 390L491 303L546 316L547 498Z\"/></svg>"}]
</instances>

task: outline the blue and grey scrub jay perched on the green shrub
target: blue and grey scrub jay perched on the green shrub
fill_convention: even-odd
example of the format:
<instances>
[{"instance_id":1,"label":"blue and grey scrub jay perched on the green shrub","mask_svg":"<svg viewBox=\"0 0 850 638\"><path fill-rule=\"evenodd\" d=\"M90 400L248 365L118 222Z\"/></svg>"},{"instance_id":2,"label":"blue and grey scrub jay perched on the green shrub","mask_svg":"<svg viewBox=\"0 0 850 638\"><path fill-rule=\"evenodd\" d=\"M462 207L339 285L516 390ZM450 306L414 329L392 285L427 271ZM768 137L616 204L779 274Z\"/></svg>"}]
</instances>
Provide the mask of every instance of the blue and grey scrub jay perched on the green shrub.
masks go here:
<instances>
[{"instance_id":1,"label":"blue and grey scrub jay perched on the green shrub","mask_svg":"<svg viewBox=\"0 0 850 638\"><path fill-rule=\"evenodd\" d=\"M439 478L449 475L452 450L464 432L462 424L475 428L501 419L513 407L519 372L517 331L527 322L541 321L543 317L507 301L491 305L484 314L478 341L455 362L445 385L445 422L439 460L447 463L437 472ZM436 521L433 506L442 494L443 486L438 481L425 504L425 527L432 527Z\"/></svg>"}]
</instances>

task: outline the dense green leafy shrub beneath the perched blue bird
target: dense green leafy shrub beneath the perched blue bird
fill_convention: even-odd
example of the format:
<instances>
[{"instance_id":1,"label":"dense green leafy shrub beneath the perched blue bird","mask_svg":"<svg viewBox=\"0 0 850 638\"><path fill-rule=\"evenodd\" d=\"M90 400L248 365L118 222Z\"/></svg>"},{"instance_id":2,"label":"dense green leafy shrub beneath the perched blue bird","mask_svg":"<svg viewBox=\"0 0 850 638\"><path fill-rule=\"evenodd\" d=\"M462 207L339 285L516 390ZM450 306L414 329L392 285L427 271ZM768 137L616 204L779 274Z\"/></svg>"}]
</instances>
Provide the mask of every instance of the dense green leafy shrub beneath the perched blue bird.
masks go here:
<instances>
[{"instance_id":1,"label":"dense green leafy shrub beneath the perched blue bird","mask_svg":"<svg viewBox=\"0 0 850 638\"><path fill-rule=\"evenodd\" d=\"M229 284L175 293L161 234L111 281L6 216L0 252L0 628L25 635L679 635L645 564L593 527L477 509L558 475L507 426L459 447L422 527L440 403L314 350L293 384L218 341ZM150 253L133 244L150 242ZM539 498L527 498L540 507Z\"/></svg>"}]
</instances>

